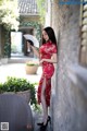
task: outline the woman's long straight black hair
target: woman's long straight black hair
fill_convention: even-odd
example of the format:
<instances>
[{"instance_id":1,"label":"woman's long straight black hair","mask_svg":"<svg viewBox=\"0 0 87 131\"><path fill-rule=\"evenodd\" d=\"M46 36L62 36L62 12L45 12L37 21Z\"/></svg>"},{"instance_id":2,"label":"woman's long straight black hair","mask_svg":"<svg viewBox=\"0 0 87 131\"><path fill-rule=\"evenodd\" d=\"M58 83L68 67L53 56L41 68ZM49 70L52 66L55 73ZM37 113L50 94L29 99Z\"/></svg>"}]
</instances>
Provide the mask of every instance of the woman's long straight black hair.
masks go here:
<instances>
[{"instance_id":1,"label":"woman's long straight black hair","mask_svg":"<svg viewBox=\"0 0 87 131\"><path fill-rule=\"evenodd\" d=\"M44 31L48 34L49 36L49 40L52 41L52 44L57 45L57 39L55 39L55 35L54 35L54 31L52 29L52 27L46 27L44 28ZM46 44L45 38L42 37L42 44Z\"/></svg>"}]
</instances>

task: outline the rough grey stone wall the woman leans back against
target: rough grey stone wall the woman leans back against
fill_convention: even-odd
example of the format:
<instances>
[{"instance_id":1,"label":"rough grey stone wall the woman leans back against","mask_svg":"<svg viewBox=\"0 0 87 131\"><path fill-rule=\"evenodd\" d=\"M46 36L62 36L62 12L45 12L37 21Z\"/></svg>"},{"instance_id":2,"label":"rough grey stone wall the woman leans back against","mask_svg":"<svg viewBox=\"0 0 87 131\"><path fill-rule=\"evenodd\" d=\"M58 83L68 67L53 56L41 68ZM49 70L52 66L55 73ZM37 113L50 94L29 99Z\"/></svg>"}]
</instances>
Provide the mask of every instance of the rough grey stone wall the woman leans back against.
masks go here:
<instances>
[{"instance_id":1,"label":"rough grey stone wall the woman leans back against","mask_svg":"<svg viewBox=\"0 0 87 131\"><path fill-rule=\"evenodd\" d=\"M67 75L67 67L78 64L80 46L79 37L79 5L59 5L52 3L52 27L58 39L58 71L52 94L53 131L73 130L76 122L72 86ZM55 78L53 78L55 79ZM52 91L53 92L53 91ZM84 131L84 130L83 130Z\"/></svg>"}]
</instances>

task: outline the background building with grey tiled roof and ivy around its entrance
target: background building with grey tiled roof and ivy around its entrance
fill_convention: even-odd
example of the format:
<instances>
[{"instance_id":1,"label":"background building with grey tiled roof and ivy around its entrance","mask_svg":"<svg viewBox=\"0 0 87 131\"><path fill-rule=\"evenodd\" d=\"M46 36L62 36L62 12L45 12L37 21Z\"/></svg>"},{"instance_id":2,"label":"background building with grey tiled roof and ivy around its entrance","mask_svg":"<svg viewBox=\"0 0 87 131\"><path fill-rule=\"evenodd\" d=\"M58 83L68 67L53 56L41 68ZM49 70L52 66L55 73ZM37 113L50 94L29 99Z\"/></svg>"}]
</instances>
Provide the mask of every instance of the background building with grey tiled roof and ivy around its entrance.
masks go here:
<instances>
[{"instance_id":1,"label":"background building with grey tiled roof and ivy around its entrance","mask_svg":"<svg viewBox=\"0 0 87 131\"><path fill-rule=\"evenodd\" d=\"M16 48L22 48L23 56L28 56L27 52L27 44L26 39L23 35L30 34L37 37L38 41L40 43L40 29L41 25L39 24L39 14L37 9L36 0L18 0L18 8L20 8L20 27L17 31L18 36L21 36L21 43L18 47L18 39L13 43L15 45L12 45L12 38L16 35L15 31L10 31L7 33L7 31L3 28L3 26L0 26L0 56L3 57L4 52L7 52L8 57L11 57L11 53L16 53ZM11 35L11 33L13 33ZM17 36L17 37L18 37ZM16 38L17 38L16 37ZM14 56L15 56L14 53ZM33 52L30 55L33 57Z\"/></svg>"}]
</instances>

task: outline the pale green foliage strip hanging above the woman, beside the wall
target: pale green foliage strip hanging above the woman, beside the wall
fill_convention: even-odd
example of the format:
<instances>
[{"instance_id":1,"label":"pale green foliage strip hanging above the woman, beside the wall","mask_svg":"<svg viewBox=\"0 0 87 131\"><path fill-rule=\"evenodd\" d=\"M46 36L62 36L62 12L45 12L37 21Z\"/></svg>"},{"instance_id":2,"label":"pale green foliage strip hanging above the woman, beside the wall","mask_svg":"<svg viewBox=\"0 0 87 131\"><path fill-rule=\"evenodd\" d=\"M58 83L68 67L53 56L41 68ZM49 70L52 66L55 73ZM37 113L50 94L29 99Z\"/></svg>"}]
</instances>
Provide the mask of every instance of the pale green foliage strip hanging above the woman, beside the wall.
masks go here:
<instances>
[{"instance_id":1,"label":"pale green foliage strip hanging above the woman, beside the wall","mask_svg":"<svg viewBox=\"0 0 87 131\"><path fill-rule=\"evenodd\" d=\"M40 22L41 24L45 23L45 15L46 15L46 0L36 0L37 7L40 15Z\"/></svg>"}]
</instances>

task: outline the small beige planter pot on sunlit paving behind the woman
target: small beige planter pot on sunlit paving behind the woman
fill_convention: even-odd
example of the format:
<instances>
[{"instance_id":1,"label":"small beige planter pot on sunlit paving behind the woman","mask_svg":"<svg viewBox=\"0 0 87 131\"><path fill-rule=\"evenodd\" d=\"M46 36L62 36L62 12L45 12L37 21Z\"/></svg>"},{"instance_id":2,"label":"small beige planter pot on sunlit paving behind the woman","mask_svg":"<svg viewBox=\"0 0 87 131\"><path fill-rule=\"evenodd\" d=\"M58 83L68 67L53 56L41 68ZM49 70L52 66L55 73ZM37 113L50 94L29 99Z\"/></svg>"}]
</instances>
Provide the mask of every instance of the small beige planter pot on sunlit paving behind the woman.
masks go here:
<instances>
[{"instance_id":1,"label":"small beige planter pot on sunlit paving behind the woman","mask_svg":"<svg viewBox=\"0 0 87 131\"><path fill-rule=\"evenodd\" d=\"M37 61L27 61L26 62L26 74L35 74L37 73L37 69L38 69L38 62Z\"/></svg>"}]
</instances>

